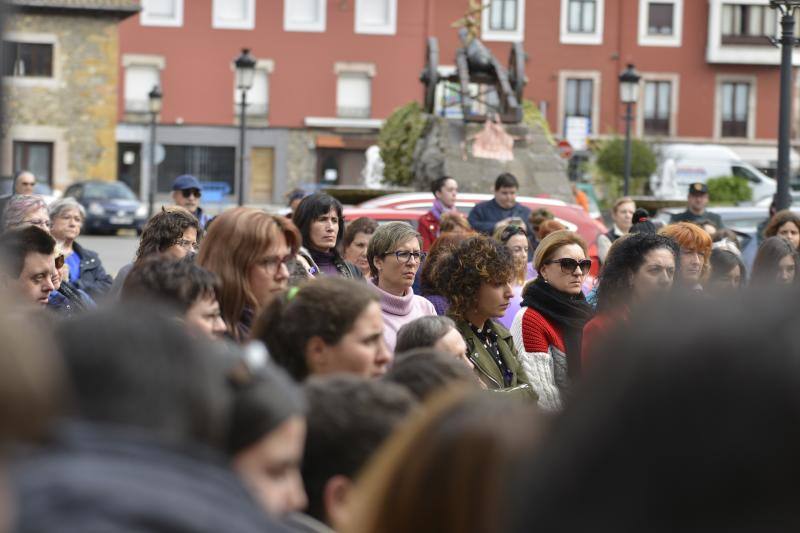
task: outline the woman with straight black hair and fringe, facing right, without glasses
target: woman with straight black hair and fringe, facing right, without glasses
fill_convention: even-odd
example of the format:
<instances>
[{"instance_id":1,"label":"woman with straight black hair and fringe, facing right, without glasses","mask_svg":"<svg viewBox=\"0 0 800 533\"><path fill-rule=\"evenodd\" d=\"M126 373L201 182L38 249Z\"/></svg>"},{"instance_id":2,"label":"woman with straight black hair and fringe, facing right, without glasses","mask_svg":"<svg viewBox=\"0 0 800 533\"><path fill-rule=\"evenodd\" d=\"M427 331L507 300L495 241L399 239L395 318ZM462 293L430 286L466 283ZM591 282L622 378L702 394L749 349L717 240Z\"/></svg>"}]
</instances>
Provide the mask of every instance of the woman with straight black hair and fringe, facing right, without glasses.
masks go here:
<instances>
[{"instance_id":1,"label":"woman with straight black hair and fringe, facing right, without glasses","mask_svg":"<svg viewBox=\"0 0 800 533\"><path fill-rule=\"evenodd\" d=\"M292 221L303 237L297 260L306 277L363 278L361 270L340 253L344 218L339 200L325 193L306 196L292 214Z\"/></svg>"}]
</instances>

